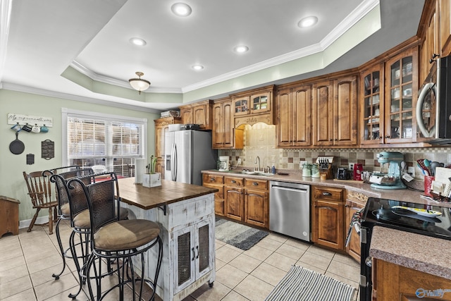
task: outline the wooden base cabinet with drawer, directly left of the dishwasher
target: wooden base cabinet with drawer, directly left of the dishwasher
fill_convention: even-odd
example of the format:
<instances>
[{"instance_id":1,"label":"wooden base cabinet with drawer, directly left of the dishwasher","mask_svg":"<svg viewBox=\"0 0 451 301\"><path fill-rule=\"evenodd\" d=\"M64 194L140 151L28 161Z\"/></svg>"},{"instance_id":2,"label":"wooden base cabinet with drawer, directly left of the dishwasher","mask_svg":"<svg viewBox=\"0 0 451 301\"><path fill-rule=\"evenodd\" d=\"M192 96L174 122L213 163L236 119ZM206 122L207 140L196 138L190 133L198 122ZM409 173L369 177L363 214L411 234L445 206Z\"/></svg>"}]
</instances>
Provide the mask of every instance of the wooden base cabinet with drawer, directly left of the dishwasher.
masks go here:
<instances>
[{"instance_id":1,"label":"wooden base cabinet with drawer, directly left of the dishwasher","mask_svg":"<svg viewBox=\"0 0 451 301\"><path fill-rule=\"evenodd\" d=\"M269 228L268 180L245 178L245 223Z\"/></svg>"}]
</instances>

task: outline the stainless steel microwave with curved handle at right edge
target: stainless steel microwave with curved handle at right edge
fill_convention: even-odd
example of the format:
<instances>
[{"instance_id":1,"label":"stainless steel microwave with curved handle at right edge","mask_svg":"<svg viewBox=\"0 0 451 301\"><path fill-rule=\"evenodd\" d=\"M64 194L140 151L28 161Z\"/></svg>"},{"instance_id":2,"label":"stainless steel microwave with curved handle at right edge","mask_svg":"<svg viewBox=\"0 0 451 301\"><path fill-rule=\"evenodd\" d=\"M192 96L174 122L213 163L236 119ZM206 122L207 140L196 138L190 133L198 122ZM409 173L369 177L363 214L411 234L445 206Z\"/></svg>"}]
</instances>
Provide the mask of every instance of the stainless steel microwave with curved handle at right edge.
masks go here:
<instances>
[{"instance_id":1,"label":"stainless steel microwave with curved handle at right edge","mask_svg":"<svg viewBox=\"0 0 451 301\"><path fill-rule=\"evenodd\" d=\"M420 137L431 138L428 143L451 144L451 56L433 61L419 91L416 124Z\"/></svg>"}]
</instances>

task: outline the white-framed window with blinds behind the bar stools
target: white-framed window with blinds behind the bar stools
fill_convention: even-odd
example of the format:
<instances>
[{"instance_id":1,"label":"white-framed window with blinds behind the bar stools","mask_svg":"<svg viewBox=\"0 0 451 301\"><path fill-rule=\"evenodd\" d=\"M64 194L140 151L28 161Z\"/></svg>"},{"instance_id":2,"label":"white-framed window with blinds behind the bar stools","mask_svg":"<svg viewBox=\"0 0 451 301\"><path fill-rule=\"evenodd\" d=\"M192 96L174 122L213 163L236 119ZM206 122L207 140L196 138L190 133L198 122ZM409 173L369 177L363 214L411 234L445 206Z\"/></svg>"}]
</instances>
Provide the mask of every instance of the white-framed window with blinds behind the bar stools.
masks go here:
<instances>
[{"instance_id":1,"label":"white-framed window with blinds behind the bar stools","mask_svg":"<svg viewBox=\"0 0 451 301\"><path fill-rule=\"evenodd\" d=\"M135 159L144 158L142 121L66 116L68 165L104 165L120 176L132 176Z\"/></svg>"}]
</instances>

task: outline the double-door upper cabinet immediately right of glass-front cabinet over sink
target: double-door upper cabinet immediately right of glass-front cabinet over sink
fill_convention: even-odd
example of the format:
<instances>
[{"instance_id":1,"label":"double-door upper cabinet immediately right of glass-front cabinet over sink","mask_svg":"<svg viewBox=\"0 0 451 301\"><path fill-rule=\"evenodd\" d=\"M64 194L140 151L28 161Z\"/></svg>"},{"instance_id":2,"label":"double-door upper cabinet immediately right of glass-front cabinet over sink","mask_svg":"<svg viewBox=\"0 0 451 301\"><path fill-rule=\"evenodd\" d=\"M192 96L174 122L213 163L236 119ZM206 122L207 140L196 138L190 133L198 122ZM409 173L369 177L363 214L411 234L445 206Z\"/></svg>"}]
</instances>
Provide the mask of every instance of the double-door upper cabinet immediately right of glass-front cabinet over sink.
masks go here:
<instances>
[{"instance_id":1,"label":"double-door upper cabinet immediately right of glass-front cabinet over sink","mask_svg":"<svg viewBox=\"0 0 451 301\"><path fill-rule=\"evenodd\" d=\"M311 85L278 90L276 116L278 147L311 145Z\"/></svg>"}]
</instances>

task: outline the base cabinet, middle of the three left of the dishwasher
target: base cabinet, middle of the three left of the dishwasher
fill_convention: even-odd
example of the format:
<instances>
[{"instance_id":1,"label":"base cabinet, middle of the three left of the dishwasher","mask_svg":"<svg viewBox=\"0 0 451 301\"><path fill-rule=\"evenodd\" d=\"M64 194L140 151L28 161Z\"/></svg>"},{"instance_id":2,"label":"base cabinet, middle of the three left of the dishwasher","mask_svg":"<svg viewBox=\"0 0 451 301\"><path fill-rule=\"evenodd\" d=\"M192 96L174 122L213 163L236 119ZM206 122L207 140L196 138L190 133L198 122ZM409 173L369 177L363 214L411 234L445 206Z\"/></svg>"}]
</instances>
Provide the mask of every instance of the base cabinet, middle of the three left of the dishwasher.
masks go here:
<instances>
[{"instance_id":1,"label":"base cabinet, middle of the three left of the dishwasher","mask_svg":"<svg viewBox=\"0 0 451 301\"><path fill-rule=\"evenodd\" d=\"M244 178L224 177L225 215L229 219L244 221L245 217Z\"/></svg>"}]
</instances>

